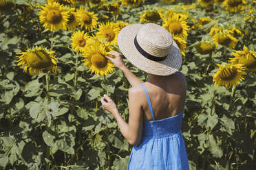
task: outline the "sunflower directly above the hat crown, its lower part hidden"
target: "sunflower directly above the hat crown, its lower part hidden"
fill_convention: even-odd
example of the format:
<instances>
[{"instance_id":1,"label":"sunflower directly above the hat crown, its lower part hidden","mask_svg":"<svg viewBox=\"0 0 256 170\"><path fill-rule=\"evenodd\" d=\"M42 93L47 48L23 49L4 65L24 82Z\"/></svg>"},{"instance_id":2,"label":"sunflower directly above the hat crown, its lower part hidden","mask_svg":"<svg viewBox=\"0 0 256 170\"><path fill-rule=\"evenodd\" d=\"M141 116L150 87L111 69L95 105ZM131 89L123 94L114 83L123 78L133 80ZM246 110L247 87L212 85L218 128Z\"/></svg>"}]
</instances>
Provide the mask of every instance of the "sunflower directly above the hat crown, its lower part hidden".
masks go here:
<instances>
[{"instance_id":1,"label":"sunflower directly above the hat crown, its lower part hidden","mask_svg":"<svg viewBox=\"0 0 256 170\"><path fill-rule=\"evenodd\" d=\"M162 18L162 10L147 10L142 12L140 23L156 23Z\"/></svg>"}]
</instances>

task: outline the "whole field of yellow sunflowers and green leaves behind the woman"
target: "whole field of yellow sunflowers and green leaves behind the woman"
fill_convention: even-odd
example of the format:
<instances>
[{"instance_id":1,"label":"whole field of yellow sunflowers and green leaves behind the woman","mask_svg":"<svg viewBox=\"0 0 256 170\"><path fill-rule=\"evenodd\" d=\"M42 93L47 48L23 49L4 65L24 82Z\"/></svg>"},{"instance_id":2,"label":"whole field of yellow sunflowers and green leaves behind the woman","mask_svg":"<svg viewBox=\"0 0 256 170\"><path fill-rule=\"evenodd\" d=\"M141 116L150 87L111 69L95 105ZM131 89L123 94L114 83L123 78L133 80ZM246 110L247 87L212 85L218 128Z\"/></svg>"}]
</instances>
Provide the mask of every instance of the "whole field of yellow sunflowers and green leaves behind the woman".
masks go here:
<instances>
[{"instance_id":1,"label":"whole field of yellow sunflowers and green leaves behind the woman","mask_svg":"<svg viewBox=\"0 0 256 170\"><path fill-rule=\"evenodd\" d=\"M256 169L255 12L255 0L0 0L0 169L127 169L132 146L100 98L128 121L130 84L105 55L131 23L180 47L190 169Z\"/></svg>"}]
</instances>

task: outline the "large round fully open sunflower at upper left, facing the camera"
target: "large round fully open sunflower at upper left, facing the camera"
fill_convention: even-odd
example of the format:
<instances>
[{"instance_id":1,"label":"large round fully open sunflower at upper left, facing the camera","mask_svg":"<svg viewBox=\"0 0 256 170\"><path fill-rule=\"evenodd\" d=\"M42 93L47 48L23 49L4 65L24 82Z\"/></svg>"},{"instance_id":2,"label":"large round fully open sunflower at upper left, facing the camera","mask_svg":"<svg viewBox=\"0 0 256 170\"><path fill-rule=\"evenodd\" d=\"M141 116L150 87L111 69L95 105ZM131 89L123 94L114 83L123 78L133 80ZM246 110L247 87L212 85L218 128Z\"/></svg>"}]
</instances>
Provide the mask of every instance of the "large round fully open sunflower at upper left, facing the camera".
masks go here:
<instances>
[{"instance_id":1,"label":"large round fully open sunflower at upper left, facing the camera","mask_svg":"<svg viewBox=\"0 0 256 170\"><path fill-rule=\"evenodd\" d=\"M41 6L39 12L40 23L43 23L43 27L50 29L51 31L58 29L66 29L68 10L57 2L48 2L45 6Z\"/></svg>"}]
</instances>

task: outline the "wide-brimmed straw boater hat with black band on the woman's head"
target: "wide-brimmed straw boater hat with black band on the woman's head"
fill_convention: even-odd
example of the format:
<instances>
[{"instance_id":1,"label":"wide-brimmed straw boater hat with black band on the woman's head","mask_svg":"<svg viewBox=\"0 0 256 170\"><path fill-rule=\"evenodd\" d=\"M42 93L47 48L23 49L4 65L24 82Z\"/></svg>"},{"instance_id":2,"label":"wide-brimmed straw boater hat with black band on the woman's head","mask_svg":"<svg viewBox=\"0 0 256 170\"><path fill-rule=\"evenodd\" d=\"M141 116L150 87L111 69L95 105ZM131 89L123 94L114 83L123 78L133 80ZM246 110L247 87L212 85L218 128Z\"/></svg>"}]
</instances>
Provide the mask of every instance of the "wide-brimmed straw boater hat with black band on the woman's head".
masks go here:
<instances>
[{"instance_id":1,"label":"wide-brimmed straw boater hat with black band on the woman's head","mask_svg":"<svg viewBox=\"0 0 256 170\"><path fill-rule=\"evenodd\" d=\"M155 23L122 28L118 46L131 64L154 75L171 75L182 64L180 49L171 34Z\"/></svg>"}]
</instances>

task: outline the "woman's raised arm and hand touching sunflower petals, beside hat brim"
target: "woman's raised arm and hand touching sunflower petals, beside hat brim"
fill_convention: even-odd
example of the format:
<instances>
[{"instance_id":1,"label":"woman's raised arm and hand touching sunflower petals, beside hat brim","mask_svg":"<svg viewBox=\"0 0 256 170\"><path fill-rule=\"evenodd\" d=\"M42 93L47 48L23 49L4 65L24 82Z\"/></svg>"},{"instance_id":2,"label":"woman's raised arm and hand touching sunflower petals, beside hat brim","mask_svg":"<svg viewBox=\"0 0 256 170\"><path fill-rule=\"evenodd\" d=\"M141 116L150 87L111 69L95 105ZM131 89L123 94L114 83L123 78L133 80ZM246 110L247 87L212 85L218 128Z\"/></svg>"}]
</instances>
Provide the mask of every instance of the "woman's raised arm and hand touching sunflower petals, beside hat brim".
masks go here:
<instances>
[{"instance_id":1,"label":"woman's raised arm and hand touching sunflower petals, beside hat brim","mask_svg":"<svg viewBox=\"0 0 256 170\"><path fill-rule=\"evenodd\" d=\"M127 77L127 80L131 84L131 86L136 86L138 84L143 83L142 80L140 80L134 73L131 73L131 71L125 66L125 63L122 61L121 54L117 51L110 51L109 55L115 56L115 58L111 58L110 56L105 56L107 59L111 60L115 64L115 66L122 71L122 73L125 74L125 77Z\"/></svg>"}]
</instances>

